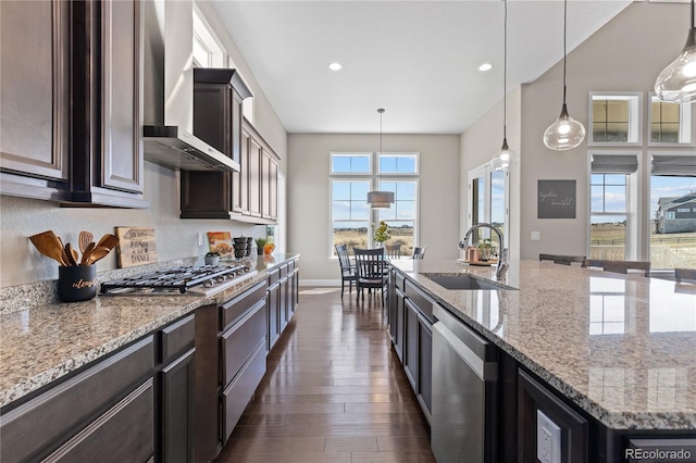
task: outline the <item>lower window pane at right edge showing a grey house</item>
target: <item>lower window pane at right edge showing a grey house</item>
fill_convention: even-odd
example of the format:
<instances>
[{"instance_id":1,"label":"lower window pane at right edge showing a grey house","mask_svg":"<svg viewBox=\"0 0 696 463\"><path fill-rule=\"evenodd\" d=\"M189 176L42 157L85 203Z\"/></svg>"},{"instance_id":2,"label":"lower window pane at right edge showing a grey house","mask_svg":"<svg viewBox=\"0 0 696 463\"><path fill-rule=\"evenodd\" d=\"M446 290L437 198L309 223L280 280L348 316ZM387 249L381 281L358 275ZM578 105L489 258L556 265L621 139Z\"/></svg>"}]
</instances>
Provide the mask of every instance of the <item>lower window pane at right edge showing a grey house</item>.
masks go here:
<instances>
[{"instance_id":1,"label":"lower window pane at right edge showing a grey house","mask_svg":"<svg viewBox=\"0 0 696 463\"><path fill-rule=\"evenodd\" d=\"M696 268L696 178L650 177L650 263Z\"/></svg>"}]
</instances>

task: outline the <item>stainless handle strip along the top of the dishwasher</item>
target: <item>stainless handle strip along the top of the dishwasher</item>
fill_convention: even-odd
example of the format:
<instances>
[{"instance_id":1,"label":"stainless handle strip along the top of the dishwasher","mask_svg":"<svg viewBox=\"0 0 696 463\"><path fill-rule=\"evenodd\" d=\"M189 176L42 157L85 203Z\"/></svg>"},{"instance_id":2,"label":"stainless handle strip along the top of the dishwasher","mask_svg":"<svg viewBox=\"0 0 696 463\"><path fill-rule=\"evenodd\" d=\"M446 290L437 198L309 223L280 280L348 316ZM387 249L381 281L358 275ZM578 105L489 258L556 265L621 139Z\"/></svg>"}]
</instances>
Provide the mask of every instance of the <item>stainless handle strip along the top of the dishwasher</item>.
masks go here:
<instances>
[{"instance_id":1,"label":"stainless handle strip along the top of the dishwasher","mask_svg":"<svg viewBox=\"0 0 696 463\"><path fill-rule=\"evenodd\" d=\"M433 315L437 322L433 331L437 331L452 347L457 354L486 381L498 378L498 349L467 326L439 304L433 304Z\"/></svg>"}]
</instances>

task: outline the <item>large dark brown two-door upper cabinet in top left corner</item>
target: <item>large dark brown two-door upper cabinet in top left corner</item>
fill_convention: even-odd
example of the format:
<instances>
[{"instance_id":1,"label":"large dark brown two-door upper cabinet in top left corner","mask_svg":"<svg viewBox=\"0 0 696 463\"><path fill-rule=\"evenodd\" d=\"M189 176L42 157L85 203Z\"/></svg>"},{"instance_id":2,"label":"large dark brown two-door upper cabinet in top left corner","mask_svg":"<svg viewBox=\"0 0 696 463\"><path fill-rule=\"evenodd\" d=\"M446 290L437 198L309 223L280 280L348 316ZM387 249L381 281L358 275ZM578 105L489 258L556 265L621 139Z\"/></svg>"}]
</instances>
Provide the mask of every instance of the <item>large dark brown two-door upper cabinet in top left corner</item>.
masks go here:
<instances>
[{"instance_id":1,"label":"large dark brown two-door upper cabinet in top left corner","mask_svg":"<svg viewBox=\"0 0 696 463\"><path fill-rule=\"evenodd\" d=\"M147 208L140 2L2 1L0 9L2 193Z\"/></svg>"}]
</instances>

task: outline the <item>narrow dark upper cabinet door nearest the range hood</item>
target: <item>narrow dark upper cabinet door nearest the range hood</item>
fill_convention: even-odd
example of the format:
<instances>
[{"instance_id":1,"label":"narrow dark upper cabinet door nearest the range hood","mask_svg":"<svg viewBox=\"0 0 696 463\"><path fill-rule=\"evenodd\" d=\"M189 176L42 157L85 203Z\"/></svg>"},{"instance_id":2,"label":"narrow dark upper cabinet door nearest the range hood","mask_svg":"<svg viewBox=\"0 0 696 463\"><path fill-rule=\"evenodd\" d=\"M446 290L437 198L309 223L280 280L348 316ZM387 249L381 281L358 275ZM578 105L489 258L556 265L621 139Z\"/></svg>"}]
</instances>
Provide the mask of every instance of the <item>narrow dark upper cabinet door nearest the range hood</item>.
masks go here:
<instances>
[{"instance_id":1,"label":"narrow dark upper cabinet door nearest the range hood","mask_svg":"<svg viewBox=\"0 0 696 463\"><path fill-rule=\"evenodd\" d=\"M142 192L140 138L140 2L112 0L101 5L102 187Z\"/></svg>"}]
</instances>

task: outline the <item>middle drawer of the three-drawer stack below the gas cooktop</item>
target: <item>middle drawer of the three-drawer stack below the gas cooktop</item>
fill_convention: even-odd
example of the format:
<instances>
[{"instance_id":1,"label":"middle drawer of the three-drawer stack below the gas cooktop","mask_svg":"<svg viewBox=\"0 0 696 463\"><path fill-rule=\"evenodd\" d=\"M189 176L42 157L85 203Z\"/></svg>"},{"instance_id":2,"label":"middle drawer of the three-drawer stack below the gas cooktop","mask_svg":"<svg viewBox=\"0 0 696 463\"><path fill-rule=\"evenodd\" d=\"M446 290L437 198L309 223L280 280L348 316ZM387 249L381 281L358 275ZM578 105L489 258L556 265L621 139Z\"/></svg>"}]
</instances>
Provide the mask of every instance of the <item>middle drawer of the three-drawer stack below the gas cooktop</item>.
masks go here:
<instances>
[{"instance_id":1,"label":"middle drawer of the three-drawer stack below the gas cooktop","mask_svg":"<svg viewBox=\"0 0 696 463\"><path fill-rule=\"evenodd\" d=\"M221 335L223 387L237 375L258 343L264 341L265 345L265 301L261 301L239 323Z\"/></svg>"}]
</instances>

